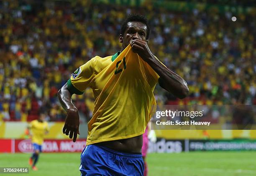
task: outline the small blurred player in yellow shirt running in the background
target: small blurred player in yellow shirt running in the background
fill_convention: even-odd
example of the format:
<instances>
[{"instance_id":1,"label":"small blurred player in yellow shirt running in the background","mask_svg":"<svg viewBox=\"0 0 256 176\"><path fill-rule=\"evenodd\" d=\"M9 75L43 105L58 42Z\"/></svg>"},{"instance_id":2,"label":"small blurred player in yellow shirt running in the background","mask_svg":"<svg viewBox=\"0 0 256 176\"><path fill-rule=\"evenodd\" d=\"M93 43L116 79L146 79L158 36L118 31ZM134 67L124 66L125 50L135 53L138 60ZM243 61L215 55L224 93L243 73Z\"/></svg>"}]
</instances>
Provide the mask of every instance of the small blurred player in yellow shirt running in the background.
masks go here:
<instances>
[{"instance_id":1,"label":"small blurred player in yellow shirt running in the background","mask_svg":"<svg viewBox=\"0 0 256 176\"><path fill-rule=\"evenodd\" d=\"M44 135L49 132L48 123L44 121L45 114L40 113L37 120L30 122L28 130L31 131L33 144L33 154L29 159L29 164L34 171L37 171L36 163L38 161L39 154L42 152L42 144L44 143Z\"/></svg>"}]
</instances>

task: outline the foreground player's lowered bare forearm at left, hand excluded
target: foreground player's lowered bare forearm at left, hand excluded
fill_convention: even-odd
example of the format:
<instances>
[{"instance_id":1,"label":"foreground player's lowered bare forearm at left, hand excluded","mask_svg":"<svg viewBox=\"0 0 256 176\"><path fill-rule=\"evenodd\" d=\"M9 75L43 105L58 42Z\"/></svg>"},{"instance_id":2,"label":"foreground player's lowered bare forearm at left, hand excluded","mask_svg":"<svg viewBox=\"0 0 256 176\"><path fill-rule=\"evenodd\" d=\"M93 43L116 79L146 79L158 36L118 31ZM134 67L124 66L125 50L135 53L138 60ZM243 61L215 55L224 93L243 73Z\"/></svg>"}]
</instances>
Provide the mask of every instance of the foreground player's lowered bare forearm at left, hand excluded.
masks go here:
<instances>
[{"instance_id":1,"label":"foreground player's lowered bare forearm at left, hand excluded","mask_svg":"<svg viewBox=\"0 0 256 176\"><path fill-rule=\"evenodd\" d=\"M77 111L77 108L72 103L71 97L72 97L72 94L67 89L67 83L66 83L63 87L61 87L61 89L59 89L59 92L58 92L59 102L61 106L65 109L65 111L69 109Z\"/></svg>"}]
</instances>

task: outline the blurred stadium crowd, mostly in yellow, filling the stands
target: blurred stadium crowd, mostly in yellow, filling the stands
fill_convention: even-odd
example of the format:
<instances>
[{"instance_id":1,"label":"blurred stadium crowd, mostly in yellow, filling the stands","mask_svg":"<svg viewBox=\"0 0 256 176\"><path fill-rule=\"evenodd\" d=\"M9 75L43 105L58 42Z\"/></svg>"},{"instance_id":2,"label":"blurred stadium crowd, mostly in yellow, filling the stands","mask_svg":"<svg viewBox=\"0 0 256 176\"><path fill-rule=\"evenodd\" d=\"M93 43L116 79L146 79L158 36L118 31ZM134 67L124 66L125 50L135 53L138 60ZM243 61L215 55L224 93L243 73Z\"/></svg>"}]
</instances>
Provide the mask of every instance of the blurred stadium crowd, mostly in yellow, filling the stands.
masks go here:
<instances>
[{"instance_id":1,"label":"blurred stadium crowd, mostly in yellow, filling the stands","mask_svg":"<svg viewBox=\"0 0 256 176\"><path fill-rule=\"evenodd\" d=\"M232 13L217 10L38 3L0 2L0 121L30 121L39 111L63 121L57 91L95 55L120 50L121 23L133 12L149 19L152 53L189 86L183 100L156 87L159 104L256 104L255 14L237 14L233 22ZM90 117L92 91L73 97Z\"/></svg>"}]
</instances>

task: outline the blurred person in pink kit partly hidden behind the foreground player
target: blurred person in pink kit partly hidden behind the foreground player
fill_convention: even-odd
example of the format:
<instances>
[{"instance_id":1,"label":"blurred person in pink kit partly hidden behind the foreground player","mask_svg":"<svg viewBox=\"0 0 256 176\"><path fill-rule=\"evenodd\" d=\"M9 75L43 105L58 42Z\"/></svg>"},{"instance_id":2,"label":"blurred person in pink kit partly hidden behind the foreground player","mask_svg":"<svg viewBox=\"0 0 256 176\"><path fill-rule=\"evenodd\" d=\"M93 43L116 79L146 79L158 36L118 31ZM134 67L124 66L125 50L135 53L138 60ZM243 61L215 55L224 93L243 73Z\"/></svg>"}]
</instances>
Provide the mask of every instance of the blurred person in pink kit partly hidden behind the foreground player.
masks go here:
<instances>
[{"instance_id":1,"label":"blurred person in pink kit partly hidden behind the foreground player","mask_svg":"<svg viewBox=\"0 0 256 176\"><path fill-rule=\"evenodd\" d=\"M144 176L148 175L148 165L146 163L146 156L148 153L148 140L153 143L156 143L156 132L151 129L151 121L148 122L148 126L146 127L146 131L143 134L143 145L141 148L142 158L144 161Z\"/></svg>"}]
</instances>

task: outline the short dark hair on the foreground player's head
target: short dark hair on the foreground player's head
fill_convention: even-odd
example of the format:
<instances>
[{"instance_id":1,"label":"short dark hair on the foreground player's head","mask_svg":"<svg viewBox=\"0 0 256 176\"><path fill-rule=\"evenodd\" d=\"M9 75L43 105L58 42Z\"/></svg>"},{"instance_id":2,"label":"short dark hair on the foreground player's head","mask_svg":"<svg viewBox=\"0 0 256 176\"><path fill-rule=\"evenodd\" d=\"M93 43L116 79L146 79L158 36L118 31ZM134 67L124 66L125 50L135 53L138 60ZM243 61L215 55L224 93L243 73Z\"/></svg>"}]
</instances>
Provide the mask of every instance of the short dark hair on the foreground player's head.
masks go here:
<instances>
[{"instance_id":1,"label":"short dark hair on the foreground player's head","mask_svg":"<svg viewBox=\"0 0 256 176\"><path fill-rule=\"evenodd\" d=\"M146 40L148 40L149 34L150 34L150 28L148 25L148 19L144 15L140 14L129 14L128 17L124 20L122 26L121 26L121 34L124 35L124 32L127 28L128 22L142 22L147 26L147 35Z\"/></svg>"}]
</instances>

